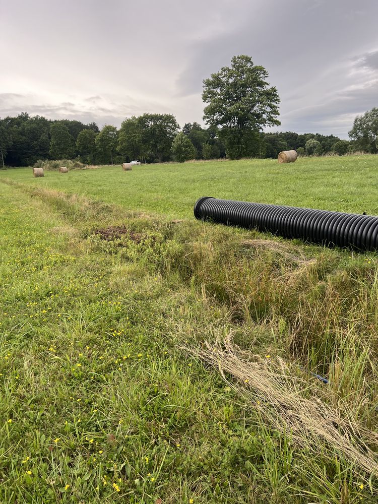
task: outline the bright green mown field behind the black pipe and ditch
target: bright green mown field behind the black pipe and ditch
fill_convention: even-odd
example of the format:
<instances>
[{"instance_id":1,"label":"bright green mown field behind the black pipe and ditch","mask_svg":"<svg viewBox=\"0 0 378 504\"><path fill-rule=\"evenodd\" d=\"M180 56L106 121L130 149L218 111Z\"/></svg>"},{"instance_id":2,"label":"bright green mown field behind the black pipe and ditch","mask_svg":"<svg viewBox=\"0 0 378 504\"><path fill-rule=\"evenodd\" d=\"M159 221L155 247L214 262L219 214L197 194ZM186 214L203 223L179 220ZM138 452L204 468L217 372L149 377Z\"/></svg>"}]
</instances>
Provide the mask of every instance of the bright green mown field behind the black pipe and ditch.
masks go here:
<instances>
[{"instance_id":1,"label":"bright green mown field behind the black pipe and ditch","mask_svg":"<svg viewBox=\"0 0 378 504\"><path fill-rule=\"evenodd\" d=\"M68 175L46 171L43 179L22 168L0 176L173 218L192 217L201 196L378 215L373 155L299 158L287 165L271 159L140 165L129 172L109 166Z\"/></svg>"}]
</instances>

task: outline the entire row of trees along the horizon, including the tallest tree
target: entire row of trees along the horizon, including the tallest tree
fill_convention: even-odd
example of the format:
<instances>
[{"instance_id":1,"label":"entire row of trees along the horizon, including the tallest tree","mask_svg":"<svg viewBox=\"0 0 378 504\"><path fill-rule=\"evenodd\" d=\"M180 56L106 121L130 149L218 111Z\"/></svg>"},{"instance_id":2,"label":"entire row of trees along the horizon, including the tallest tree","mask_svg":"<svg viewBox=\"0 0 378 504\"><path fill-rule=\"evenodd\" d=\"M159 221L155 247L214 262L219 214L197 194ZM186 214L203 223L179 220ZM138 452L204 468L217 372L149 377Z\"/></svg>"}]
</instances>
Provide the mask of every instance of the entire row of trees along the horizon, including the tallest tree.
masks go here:
<instances>
[{"instance_id":1,"label":"entire row of trees along the horizon, including the tallest tree","mask_svg":"<svg viewBox=\"0 0 378 504\"><path fill-rule=\"evenodd\" d=\"M298 154L378 152L378 108L357 116L348 140L333 135L263 133L280 125L280 98L267 82L268 72L249 56L231 59L230 67L204 80L204 121L180 129L172 114L145 113L126 118L119 130L110 124L50 120L23 112L0 118L3 165L30 166L42 159L79 159L86 164L113 164L139 159L154 163L227 157L276 158L283 150Z\"/></svg>"}]
</instances>

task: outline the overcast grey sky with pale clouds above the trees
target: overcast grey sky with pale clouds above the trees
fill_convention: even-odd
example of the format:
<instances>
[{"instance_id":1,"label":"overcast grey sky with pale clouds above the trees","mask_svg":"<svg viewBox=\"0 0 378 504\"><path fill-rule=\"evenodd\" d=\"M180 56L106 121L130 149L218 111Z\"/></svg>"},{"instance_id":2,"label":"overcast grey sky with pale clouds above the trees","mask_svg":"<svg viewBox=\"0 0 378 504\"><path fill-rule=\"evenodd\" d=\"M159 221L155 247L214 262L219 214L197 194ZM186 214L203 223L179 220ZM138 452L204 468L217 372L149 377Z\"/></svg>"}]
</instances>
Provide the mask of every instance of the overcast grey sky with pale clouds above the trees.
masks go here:
<instances>
[{"instance_id":1,"label":"overcast grey sky with pale clouds above the trees","mask_svg":"<svg viewBox=\"0 0 378 504\"><path fill-rule=\"evenodd\" d=\"M0 117L202 122L202 81L248 54L279 130L347 138L378 106L377 0L0 0Z\"/></svg>"}]
</instances>

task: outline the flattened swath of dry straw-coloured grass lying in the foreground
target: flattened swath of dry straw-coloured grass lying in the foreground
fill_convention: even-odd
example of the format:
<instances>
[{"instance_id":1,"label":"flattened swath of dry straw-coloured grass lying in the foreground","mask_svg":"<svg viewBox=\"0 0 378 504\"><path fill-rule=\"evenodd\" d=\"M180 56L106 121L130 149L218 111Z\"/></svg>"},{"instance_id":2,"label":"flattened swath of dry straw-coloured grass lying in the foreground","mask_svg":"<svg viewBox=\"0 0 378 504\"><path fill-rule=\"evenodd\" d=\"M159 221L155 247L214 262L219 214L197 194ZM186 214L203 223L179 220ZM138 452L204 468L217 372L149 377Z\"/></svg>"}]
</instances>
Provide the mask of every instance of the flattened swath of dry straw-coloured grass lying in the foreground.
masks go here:
<instances>
[{"instance_id":1,"label":"flattened swath of dry straw-coloured grass lying in the foreground","mask_svg":"<svg viewBox=\"0 0 378 504\"><path fill-rule=\"evenodd\" d=\"M337 398L331 407L326 388L305 380L279 357L263 359L243 351L231 335L223 342L182 348L216 367L249 407L259 410L266 423L284 433L291 431L298 446L316 452L325 445L326 450L336 451L353 465L378 475L373 452L378 435L359 425L345 409L342 417Z\"/></svg>"}]
</instances>

